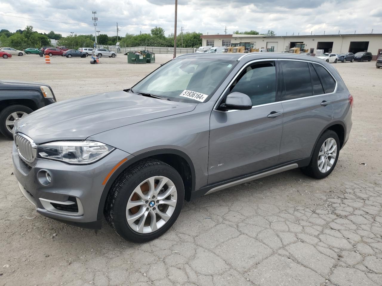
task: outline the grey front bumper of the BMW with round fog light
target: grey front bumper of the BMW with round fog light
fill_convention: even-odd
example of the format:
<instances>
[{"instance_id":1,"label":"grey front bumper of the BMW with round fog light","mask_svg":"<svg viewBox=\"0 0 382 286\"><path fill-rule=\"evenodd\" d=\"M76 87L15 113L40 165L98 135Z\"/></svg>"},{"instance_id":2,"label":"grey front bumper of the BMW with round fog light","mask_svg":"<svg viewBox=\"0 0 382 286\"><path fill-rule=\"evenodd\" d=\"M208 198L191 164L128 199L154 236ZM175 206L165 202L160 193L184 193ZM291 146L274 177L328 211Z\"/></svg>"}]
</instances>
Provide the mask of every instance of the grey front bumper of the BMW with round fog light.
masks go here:
<instances>
[{"instance_id":1,"label":"grey front bumper of the BMW with round fog light","mask_svg":"<svg viewBox=\"0 0 382 286\"><path fill-rule=\"evenodd\" d=\"M21 193L39 214L61 222L85 228L101 227L97 219L98 207L105 177L122 159L130 154L115 149L100 161L89 165L70 165L60 161L36 158L31 164L24 162L13 144L14 174ZM47 171L49 185L40 183L38 175ZM65 206L77 206L68 211Z\"/></svg>"}]
</instances>

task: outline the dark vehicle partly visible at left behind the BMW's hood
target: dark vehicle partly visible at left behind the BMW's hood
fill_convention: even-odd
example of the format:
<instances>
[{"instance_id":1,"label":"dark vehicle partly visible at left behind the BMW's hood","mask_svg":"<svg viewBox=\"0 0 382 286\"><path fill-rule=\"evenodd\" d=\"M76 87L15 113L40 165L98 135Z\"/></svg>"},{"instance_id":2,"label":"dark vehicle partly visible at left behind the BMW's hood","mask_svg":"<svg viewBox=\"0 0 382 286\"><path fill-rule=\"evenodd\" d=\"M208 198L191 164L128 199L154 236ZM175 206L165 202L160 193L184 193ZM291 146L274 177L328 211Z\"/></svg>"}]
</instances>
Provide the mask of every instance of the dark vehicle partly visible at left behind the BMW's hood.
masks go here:
<instances>
[{"instance_id":1,"label":"dark vehicle partly visible at left behind the BMW's hood","mask_svg":"<svg viewBox=\"0 0 382 286\"><path fill-rule=\"evenodd\" d=\"M55 102L56 98L49 85L20 80L0 80L0 133L12 138L18 120L34 110Z\"/></svg>"}]
</instances>

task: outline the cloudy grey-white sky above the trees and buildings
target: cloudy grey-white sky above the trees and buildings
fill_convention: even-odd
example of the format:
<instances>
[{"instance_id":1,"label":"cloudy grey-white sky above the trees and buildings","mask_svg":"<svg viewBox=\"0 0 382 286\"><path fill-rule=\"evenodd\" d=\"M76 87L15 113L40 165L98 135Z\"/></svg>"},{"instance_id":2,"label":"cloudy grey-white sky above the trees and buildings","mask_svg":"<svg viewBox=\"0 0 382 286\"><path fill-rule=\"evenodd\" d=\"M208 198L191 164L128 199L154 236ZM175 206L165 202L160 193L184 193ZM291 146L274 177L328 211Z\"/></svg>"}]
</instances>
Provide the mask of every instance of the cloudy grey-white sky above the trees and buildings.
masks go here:
<instances>
[{"instance_id":1,"label":"cloudy grey-white sky above the trees and buildings","mask_svg":"<svg viewBox=\"0 0 382 286\"><path fill-rule=\"evenodd\" d=\"M233 31L273 30L277 35L382 33L381 0L178 0L178 33L227 34ZM174 0L0 0L0 29L16 31L32 25L53 30L120 35L163 27L173 32Z\"/></svg>"}]
</instances>

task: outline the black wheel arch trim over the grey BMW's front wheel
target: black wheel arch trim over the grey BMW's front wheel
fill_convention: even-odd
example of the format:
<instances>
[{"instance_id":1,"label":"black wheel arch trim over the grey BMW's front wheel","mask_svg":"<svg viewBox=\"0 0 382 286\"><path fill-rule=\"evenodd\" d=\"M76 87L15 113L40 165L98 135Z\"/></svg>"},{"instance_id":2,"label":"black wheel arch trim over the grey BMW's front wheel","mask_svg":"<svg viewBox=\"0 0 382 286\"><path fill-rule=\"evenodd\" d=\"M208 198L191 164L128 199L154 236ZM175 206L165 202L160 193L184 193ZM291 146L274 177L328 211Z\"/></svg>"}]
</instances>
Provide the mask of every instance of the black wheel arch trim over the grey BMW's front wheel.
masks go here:
<instances>
[{"instance_id":1,"label":"black wheel arch trim over the grey BMW's front wheel","mask_svg":"<svg viewBox=\"0 0 382 286\"><path fill-rule=\"evenodd\" d=\"M162 154L178 155L178 156L182 157L183 159L185 159L185 161L187 162L187 164L189 165L189 168L191 170L191 177L192 177L191 194L193 193L193 191L195 190L195 168L194 168L193 162L191 161L190 157L186 153L184 153L183 151L177 150L177 149L156 149L156 150L144 152L142 154L134 156L133 158L131 158L131 159L127 160L126 162L124 162L123 164L121 164L118 167L118 169L115 170L115 172L110 176L110 178L108 179L108 181L104 187L104 190L102 191L102 194L101 194L101 198L100 198L99 205L98 205L97 220L102 219L102 217L104 215L104 206L105 206L107 194L109 193L110 188L111 188L112 184L114 183L115 179L123 172L123 170L125 170L129 166L133 165L134 163L141 161L142 159L145 159L147 157L152 157L155 155L162 155Z\"/></svg>"}]
</instances>

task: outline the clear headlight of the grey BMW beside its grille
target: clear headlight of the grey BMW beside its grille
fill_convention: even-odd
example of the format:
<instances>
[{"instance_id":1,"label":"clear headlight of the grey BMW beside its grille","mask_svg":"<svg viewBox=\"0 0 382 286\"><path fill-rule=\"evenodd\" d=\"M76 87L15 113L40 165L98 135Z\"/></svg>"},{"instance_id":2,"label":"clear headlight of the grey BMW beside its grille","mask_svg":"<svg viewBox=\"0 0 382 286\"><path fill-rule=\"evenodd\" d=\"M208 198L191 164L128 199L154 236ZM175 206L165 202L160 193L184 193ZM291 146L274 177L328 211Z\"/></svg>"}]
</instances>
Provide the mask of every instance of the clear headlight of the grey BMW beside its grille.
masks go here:
<instances>
[{"instance_id":1,"label":"clear headlight of the grey BMW beside its grille","mask_svg":"<svg viewBox=\"0 0 382 286\"><path fill-rule=\"evenodd\" d=\"M98 161L115 148L97 141L55 141L37 146L38 157L70 164Z\"/></svg>"}]
</instances>

